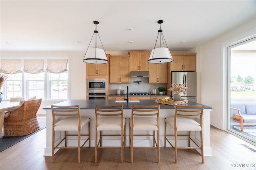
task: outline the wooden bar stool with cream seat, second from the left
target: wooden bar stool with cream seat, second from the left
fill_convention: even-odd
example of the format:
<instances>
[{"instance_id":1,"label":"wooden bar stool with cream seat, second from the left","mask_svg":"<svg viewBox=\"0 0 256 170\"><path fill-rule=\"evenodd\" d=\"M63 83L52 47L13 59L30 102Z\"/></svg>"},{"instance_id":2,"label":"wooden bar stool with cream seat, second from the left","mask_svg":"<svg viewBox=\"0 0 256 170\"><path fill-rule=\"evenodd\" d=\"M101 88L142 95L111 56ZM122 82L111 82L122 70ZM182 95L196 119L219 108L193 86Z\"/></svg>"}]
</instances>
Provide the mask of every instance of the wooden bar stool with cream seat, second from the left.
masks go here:
<instances>
[{"instance_id":1,"label":"wooden bar stool with cream seat, second from the left","mask_svg":"<svg viewBox=\"0 0 256 170\"><path fill-rule=\"evenodd\" d=\"M95 105L95 163L97 162L98 149L121 148L121 162L124 162L124 146L125 146L125 118L123 117L123 106L100 106ZM98 131L100 131L100 139L98 141ZM102 131L120 131L120 135L102 134ZM121 147L102 146L102 137L121 137ZM99 146L100 145L100 146Z\"/></svg>"}]
</instances>

